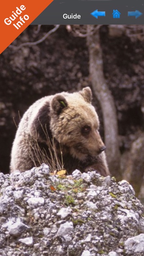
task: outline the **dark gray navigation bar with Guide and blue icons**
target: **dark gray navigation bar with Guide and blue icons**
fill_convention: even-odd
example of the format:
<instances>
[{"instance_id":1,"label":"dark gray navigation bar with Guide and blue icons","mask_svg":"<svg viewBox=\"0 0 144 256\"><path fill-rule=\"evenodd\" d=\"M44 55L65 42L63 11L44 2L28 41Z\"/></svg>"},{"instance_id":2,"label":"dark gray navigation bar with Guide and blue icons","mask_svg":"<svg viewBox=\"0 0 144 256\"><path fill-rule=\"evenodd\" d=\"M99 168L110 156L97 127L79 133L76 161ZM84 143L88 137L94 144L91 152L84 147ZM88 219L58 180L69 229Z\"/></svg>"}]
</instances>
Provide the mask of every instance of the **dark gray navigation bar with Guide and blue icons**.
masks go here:
<instances>
[{"instance_id":1,"label":"dark gray navigation bar with Guide and blue icons","mask_svg":"<svg viewBox=\"0 0 144 256\"><path fill-rule=\"evenodd\" d=\"M32 25L144 24L143 0L54 0Z\"/></svg>"}]
</instances>

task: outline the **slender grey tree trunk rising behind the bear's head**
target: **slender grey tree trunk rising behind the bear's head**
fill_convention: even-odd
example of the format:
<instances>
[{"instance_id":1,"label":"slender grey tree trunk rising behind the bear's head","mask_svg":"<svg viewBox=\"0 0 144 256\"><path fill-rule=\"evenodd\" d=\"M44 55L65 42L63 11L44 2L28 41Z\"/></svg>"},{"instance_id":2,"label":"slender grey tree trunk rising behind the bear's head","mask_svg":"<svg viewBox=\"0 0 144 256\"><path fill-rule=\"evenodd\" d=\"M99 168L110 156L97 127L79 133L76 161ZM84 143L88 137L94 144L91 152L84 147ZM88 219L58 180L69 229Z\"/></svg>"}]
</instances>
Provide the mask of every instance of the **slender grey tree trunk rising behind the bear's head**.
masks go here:
<instances>
[{"instance_id":1,"label":"slender grey tree trunk rising behind the bear's head","mask_svg":"<svg viewBox=\"0 0 144 256\"><path fill-rule=\"evenodd\" d=\"M91 76L93 92L99 100L103 113L104 140L109 169L111 174L114 175L117 180L120 180L120 151L118 143L116 108L111 91L106 85L106 81L104 79L99 30L92 33L95 28L95 25L87 25L89 72Z\"/></svg>"}]
</instances>

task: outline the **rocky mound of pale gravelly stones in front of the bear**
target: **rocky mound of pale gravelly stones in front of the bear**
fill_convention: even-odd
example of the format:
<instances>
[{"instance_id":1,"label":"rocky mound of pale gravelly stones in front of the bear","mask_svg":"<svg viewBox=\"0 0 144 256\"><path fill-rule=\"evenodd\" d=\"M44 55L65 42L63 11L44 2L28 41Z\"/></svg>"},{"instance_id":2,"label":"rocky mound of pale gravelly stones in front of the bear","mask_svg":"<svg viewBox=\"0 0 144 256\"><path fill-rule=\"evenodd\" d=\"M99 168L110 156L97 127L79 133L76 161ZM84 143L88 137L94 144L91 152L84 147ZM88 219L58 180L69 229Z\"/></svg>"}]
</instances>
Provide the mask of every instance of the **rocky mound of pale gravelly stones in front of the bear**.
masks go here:
<instances>
[{"instance_id":1,"label":"rocky mound of pale gravelly stones in front of the bear","mask_svg":"<svg viewBox=\"0 0 144 256\"><path fill-rule=\"evenodd\" d=\"M0 173L0 255L140 256L143 210L128 182L96 171Z\"/></svg>"}]
</instances>

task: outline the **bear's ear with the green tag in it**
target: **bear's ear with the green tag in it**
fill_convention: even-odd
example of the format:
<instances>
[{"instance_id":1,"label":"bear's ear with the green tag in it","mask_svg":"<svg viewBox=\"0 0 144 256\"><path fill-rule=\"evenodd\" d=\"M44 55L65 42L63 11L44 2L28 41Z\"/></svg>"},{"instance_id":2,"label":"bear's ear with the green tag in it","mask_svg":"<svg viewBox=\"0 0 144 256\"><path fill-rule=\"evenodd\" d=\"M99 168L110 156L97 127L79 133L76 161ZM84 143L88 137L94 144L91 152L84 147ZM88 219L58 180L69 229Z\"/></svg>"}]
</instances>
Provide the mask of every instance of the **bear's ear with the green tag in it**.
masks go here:
<instances>
[{"instance_id":1,"label":"bear's ear with the green tag in it","mask_svg":"<svg viewBox=\"0 0 144 256\"><path fill-rule=\"evenodd\" d=\"M57 94L52 99L51 106L52 106L54 113L59 115L61 113L61 111L68 106L68 103L62 95Z\"/></svg>"}]
</instances>

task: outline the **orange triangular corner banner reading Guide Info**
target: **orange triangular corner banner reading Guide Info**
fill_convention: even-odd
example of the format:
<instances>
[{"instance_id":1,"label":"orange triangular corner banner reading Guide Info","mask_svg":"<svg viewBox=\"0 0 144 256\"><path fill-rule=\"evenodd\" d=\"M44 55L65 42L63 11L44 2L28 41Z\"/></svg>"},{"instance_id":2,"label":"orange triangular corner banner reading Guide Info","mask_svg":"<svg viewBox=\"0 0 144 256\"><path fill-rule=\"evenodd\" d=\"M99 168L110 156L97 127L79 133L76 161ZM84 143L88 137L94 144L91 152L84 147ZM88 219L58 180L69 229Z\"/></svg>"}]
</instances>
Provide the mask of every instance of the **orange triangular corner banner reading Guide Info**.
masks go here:
<instances>
[{"instance_id":1,"label":"orange triangular corner banner reading Guide Info","mask_svg":"<svg viewBox=\"0 0 144 256\"><path fill-rule=\"evenodd\" d=\"M0 54L53 0L2 1L0 14Z\"/></svg>"}]
</instances>

